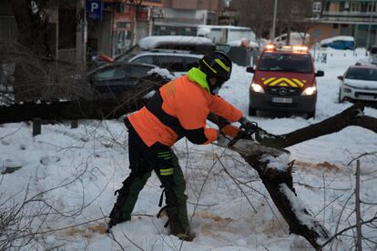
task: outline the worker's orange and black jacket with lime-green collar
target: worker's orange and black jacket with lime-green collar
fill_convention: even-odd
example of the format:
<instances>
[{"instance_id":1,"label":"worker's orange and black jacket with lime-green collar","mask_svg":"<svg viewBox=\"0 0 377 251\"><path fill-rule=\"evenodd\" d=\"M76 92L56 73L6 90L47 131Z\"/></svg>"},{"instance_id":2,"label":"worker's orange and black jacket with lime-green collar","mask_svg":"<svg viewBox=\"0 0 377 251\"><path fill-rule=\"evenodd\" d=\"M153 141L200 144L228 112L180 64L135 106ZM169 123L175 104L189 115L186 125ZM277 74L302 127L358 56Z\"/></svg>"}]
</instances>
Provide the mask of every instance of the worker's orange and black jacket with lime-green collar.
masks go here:
<instances>
[{"instance_id":1,"label":"worker's orange and black jacket with lime-green collar","mask_svg":"<svg viewBox=\"0 0 377 251\"><path fill-rule=\"evenodd\" d=\"M209 112L239 121L242 113L219 95L211 95L206 75L191 68L187 75L159 88L146 106L128 120L147 146L159 142L172 146L186 136L190 142L205 145L215 141L217 130L206 128Z\"/></svg>"}]
</instances>

